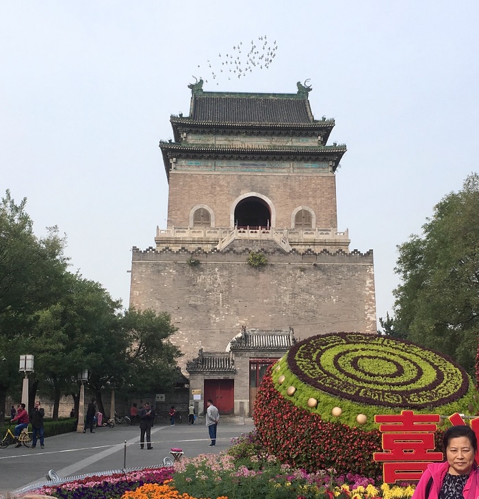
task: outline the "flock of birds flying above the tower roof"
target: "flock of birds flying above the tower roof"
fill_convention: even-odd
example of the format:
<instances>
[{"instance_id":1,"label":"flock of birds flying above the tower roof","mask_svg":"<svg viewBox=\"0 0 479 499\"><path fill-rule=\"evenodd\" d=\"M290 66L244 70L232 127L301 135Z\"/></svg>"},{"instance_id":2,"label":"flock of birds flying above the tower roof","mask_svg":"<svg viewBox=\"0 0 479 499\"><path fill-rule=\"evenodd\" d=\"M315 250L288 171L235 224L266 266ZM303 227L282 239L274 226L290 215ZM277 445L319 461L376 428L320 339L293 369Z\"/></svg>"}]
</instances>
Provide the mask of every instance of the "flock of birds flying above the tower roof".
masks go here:
<instances>
[{"instance_id":1,"label":"flock of birds flying above the tower roof","mask_svg":"<svg viewBox=\"0 0 479 499\"><path fill-rule=\"evenodd\" d=\"M230 53L218 53L218 60L207 60L203 66L198 65L198 69L200 73L207 71L207 77L211 80L221 77L239 79L246 77L248 73L253 73L253 71L268 69L276 57L277 49L276 40L271 44L266 39L266 35L259 36L257 42L251 40L249 49L243 42L239 42L233 46ZM201 74L200 79L203 79ZM208 83L207 78L205 78L205 83ZM216 81L216 85L219 85L218 81Z\"/></svg>"}]
</instances>

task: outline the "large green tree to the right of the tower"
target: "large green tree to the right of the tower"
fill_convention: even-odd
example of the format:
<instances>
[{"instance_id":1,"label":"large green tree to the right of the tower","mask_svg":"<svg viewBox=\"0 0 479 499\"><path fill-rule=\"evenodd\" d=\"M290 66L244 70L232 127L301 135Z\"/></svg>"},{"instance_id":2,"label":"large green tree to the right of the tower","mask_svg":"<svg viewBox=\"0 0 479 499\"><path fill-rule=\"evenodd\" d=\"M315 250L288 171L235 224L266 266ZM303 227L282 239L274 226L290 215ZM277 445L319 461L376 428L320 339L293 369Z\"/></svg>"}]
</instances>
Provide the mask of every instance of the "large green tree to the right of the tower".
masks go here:
<instances>
[{"instance_id":1,"label":"large green tree to the right of the tower","mask_svg":"<svg viewBox=\"0 0 479 499\"><path fill-rule=\"evenodd\" d=\"M469 372L479 333L479 175L467 177L423 226L398 246L393 329L447 353Z\"/></svg>"}]
</instances>

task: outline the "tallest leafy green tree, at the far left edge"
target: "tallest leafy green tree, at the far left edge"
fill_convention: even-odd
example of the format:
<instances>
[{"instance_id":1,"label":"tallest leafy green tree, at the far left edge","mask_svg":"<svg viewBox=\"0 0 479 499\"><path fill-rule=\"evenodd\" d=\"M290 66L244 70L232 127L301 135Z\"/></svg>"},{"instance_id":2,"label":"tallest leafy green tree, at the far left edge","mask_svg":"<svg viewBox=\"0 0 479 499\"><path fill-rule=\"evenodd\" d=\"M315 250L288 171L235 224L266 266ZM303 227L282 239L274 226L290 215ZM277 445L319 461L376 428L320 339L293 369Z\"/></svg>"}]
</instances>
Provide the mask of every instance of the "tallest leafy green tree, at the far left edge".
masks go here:
<instances>
[{"instance_id":1,"label":"tallest leafy green tree, at the far left edge","mask_svg":"<svg viewBox=\"0 0 479 499\"><path fill-rule=\"evenodd\" d=\"M0 201L0 408L18 381L18 355L31 347L36 312L55 301L68 260L65 238L57 227L37 238L25 212L27 201L16 204L10 194ZM1 360L5 359L5 361Z\"/></svg>"}]
</instances>

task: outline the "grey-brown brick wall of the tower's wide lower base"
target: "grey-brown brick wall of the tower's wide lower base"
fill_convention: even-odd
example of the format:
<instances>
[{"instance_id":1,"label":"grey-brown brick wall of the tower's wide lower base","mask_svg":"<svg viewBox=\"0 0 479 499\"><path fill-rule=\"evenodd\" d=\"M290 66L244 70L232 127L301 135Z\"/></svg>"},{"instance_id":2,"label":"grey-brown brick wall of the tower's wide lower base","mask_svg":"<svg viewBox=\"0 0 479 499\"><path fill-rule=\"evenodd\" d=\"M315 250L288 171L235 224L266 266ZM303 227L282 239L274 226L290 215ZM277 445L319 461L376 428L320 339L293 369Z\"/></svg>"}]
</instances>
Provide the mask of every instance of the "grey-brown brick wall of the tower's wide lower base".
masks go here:
<instances>
[{"instance_id":1,"label":"grey-brown brick wall of the tower's wide lower base","mask_svg":"<svg viewBox=\"0 0 479 499\"><path fill-rule=\"evenodd\" d=\"M171 197L170 197L171 199ZM267 253L253 268L247 252L133 251L130 304L167 311L179 329L172 342L185 354L224 351L245 325L294 327L296 338L334 331L376 333L372 251Z\"/></svg>"}]
</instances>

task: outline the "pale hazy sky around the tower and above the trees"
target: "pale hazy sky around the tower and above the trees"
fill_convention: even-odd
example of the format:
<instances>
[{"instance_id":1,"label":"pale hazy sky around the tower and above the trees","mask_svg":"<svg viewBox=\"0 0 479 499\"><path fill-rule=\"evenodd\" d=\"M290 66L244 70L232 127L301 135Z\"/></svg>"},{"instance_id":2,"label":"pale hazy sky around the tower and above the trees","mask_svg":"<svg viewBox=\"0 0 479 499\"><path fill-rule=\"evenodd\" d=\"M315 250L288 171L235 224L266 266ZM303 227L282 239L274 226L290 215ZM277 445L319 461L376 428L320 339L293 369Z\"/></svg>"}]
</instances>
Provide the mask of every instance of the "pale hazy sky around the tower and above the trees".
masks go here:
<instances>
[{"instance_id":1,"label":"pale hazy sky around the tower and above the trees","mask_svg":"<svg viewBox=\"0 0 479 499\"><path fill-rule=\"evenodd\" d=\"M37 235L58 225L71 270L127 305L131 246L166 227L158 142L187 116L192 75L235 92L310 79L315 118L336 120L329 143L348 146L338 229L374 249L383 317L396 245L478 171L478 18L472 0L0 0L1 193L27 197ZM208 78L207 60L265 35L268 69Z\"/></svg>"}]
</instances>

